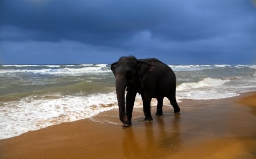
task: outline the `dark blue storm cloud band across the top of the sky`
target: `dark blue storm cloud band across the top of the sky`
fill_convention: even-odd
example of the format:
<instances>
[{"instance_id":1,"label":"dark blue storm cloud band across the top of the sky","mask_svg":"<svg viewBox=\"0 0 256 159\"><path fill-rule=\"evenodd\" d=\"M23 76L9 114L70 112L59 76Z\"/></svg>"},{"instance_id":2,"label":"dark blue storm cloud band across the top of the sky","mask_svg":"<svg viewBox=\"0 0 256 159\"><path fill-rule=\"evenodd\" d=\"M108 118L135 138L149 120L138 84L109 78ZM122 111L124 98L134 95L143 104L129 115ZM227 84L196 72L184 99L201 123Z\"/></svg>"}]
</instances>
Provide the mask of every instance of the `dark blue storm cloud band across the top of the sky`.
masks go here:
<instances>
[{"instance_id":1,"label":"dark blue storm cloud band across the top of the sky","mask_svg":"<svg viewBox=\"0 0 256 159\"><path fill-rule=\"evenodd\" d=\"M245 0L3 0L1 25L27 32L26 38L32 40L104 43L107 39L127 38L142 31L171 40L194 40L228 36L240 28L243 29L240 32L245 33L253 23L250 21L255 21L255 10L250 3ZM20 39L23 40L23 36Z\"/></svg>"}]
</instances>

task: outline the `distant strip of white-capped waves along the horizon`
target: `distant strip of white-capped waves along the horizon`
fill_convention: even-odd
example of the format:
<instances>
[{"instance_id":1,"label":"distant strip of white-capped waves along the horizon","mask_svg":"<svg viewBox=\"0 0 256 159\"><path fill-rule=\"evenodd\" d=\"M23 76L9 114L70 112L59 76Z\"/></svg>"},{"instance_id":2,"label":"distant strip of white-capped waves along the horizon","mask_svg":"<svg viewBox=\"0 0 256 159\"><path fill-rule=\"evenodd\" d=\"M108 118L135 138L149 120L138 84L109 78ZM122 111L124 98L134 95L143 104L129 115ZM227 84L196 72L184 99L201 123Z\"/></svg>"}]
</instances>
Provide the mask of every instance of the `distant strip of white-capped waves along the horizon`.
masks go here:
<instances>
[{"instance_id":1,"label":"distant strip of white-capped waves along the horizon","mask_svg":"<svg viewBox=\"0 0 256 159\"><path fill-rule=\"evenodd\" d=\"M168 65L175 72L179 71L203 71L214 68L253 68L256 65ZM84 73L111 72L108 64L81 64L81 65L2 65L0 74L31 72L33 74L64 74L76 75Z\"/></svg>"}]
</instances>

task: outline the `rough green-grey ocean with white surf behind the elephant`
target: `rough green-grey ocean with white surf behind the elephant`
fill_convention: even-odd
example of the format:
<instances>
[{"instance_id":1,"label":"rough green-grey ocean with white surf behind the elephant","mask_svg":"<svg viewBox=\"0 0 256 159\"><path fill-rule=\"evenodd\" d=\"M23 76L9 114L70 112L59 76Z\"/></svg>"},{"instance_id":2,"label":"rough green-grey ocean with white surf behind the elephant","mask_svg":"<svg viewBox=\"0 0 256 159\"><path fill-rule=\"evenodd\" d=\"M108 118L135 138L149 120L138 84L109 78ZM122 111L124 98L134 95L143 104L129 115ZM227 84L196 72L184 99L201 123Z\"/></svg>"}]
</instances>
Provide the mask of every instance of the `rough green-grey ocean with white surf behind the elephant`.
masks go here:
<instances>
[{"instance_id":1,"label":"rough green-grey ocean with white surf behind the elephant","mask_svg":"<svg viewBox=\"0 0 256 159\"><path fill-rule=\"evenodd\" d=\"M256 65L168 66L176 74L178 102L256 91ZM135 108L142 107L137 98ZM0 139L117 108L108 64L0 65Z\"/></svg>"}]
</instances>

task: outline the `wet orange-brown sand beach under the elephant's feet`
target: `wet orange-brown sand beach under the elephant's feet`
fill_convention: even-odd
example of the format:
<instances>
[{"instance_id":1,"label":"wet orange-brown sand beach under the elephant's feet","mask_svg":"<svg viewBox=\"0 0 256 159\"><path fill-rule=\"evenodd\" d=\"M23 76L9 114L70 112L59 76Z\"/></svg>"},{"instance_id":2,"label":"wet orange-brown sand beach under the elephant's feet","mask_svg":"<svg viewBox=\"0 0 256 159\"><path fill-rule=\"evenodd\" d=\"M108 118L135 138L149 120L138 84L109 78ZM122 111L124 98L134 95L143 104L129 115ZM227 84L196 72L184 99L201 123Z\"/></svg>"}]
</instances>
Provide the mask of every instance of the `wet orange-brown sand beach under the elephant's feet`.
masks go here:
<instances>
[{"instance_id":1,"label":"wet orange-brown sand beach under the elephant's feet","mask_svg":"<svg viewBox=\"0 0 256 159\"><path fill-rule=\"evenodd\" d=\"M255 158L256 92L222 100L183 100L163 117L122 128L118 110L0 140L0 158ZM152 106L152 114L155 113Z\"/></svg>"}]
</instances>

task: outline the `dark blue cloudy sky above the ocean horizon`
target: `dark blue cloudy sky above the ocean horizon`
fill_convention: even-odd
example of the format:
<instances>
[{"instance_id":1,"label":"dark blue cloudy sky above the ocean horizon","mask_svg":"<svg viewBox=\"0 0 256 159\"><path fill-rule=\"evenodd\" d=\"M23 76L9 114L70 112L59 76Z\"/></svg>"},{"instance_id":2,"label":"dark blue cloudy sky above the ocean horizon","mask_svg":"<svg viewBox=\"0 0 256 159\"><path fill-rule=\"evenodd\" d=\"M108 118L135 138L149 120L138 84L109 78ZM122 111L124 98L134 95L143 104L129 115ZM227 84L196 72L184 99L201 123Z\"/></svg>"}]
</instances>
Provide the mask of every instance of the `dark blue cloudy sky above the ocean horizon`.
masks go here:
<instances>
[{"instance_id":1,"label":"dark blue cloudy sky above the ocean horizon","mask_svg":"<svg viewBox=\"0 0 256 159\"><path fill-rule=\"evenodd\" d=\"M0 0L0 64L256 64L255 0Z\"/></svg>"}]
</instances>

